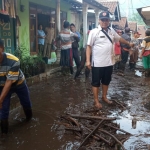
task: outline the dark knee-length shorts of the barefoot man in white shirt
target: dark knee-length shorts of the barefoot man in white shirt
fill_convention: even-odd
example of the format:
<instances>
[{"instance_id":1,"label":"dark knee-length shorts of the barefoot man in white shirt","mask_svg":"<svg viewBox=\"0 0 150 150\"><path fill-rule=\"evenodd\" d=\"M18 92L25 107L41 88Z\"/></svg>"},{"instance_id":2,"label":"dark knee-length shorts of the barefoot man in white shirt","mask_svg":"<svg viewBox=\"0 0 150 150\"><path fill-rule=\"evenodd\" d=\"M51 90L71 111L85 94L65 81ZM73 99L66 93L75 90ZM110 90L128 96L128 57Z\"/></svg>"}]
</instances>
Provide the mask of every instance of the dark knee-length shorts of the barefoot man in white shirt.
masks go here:
<instances>
[{"instance_id":1,"label":"dark knee-length shorts of the barefoot man in white shirt","mask_svg":"<svg viewBox=\"0 0 150 150\"><path fill-rule=\"evenodd\" d=\"M99 87L101 83L103 85L109 85L112 72L113 66L92 67L92 86Z\"/></svg>"}]
</instances>

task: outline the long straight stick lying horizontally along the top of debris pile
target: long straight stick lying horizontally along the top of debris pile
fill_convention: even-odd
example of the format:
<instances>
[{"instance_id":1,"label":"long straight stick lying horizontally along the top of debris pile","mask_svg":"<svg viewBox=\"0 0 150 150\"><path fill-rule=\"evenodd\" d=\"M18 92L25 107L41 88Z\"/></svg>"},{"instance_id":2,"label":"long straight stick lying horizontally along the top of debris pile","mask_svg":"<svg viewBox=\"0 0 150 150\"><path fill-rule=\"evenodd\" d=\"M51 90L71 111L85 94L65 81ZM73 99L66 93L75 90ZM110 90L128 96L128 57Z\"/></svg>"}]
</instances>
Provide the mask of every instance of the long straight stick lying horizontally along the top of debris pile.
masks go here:
<instances>
[{"instance_id":1,"label":"long straight stick lying horizontally along the top of debris pile","mask_svg":"<svg viewBox=\"0 0 150 150\"><path fill-rule=\"evenodd\" d=\"M106 118L106 117L97 117L97 116L79 116L79 115L74 115L74 114L69 114L73 118L78 118L78 119L97 119L97 120L116 120L116 117L112 118Z\"/></svg>"}]
</instances>

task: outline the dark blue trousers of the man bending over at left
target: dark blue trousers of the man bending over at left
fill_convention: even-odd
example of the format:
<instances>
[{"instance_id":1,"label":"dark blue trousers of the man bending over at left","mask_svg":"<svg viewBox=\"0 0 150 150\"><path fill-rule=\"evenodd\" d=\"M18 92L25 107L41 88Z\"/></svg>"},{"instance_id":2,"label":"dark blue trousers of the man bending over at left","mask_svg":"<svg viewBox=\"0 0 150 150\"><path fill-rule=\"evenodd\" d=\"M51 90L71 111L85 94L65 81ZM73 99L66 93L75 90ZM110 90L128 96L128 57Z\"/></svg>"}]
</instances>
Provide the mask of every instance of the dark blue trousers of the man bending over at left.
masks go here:
<instances>
[{"instance_id":1,"label":"dark blue trousers of the man bending over at left","mask_svg":"<svg viewBox=\"0 0 150 150\"><path fill-rule=\"evenodd\" d=\"M2 92L2 88L0 88L0 93ZM29 90L26 85L26 83L23 83L23 85L18 85L16 87L13 87L8 92L7 96L5 97L2 105L2 109L0 109L0 119L8 119L9 117L9 108L10 108L10 99L12 93L16 93L20 99L20 103L23 106L23 108L31 108L32 104L29 97Z\"/></svg>"}]
</instances>

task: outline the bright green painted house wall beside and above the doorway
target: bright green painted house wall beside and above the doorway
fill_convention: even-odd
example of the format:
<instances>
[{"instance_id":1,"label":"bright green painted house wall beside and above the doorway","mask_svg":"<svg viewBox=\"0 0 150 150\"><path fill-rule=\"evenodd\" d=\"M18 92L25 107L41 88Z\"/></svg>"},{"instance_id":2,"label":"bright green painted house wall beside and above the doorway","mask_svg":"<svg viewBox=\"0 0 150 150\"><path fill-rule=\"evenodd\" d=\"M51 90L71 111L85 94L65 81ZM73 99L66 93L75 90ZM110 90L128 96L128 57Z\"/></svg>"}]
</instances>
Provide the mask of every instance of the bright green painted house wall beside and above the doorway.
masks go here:
<instances>
[{"instance_id":1,"label":"bright green painted house wall beside and above the doorway","mask_svg":"<svg viewBox=\"0 0 150 150\"><path fill-rule=\"evenodd\" d=\"M48 6L56 9L56 0L21 0L21 4L24 5L25 11L20 11L20 0L18 0L18 16L21 21L21 26L19 27L19 42L20 45L26 48L26 55L30 55L30 35L29 35L29 2L35 4ZM67 19L70 21L71 12L69 10L70 5L64 1L61 1L61 11L67 12Z\"/></svg>"}]
</instances>

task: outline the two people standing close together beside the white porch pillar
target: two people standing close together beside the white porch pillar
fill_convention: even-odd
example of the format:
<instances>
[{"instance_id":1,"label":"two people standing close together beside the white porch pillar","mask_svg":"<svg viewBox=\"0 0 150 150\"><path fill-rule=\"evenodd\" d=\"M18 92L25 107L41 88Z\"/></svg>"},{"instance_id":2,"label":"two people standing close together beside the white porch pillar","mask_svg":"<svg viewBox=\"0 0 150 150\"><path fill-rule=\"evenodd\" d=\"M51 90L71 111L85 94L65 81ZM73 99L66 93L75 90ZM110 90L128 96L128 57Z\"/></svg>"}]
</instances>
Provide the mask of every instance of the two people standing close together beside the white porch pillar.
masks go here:
<instances>
[{"instance_id":1,"label":"two people standing close together beside the white porch pillar","mask_svg":"<svg viewBox=\"0 0 150 150\"><path fill-rule=\"evenodd\" d=\"M64 29L56 38L56 43L60 42L61 47L60 66L62 66L63 74L73 74L73 59L75 60L77 69L80 66L78 51L80 33L76 31L75 24L70 24L68 21L64 22L63 27Z\"/></svg>"}]
</instances>

